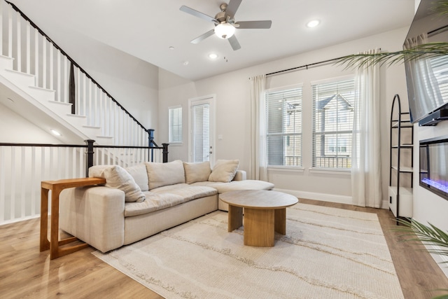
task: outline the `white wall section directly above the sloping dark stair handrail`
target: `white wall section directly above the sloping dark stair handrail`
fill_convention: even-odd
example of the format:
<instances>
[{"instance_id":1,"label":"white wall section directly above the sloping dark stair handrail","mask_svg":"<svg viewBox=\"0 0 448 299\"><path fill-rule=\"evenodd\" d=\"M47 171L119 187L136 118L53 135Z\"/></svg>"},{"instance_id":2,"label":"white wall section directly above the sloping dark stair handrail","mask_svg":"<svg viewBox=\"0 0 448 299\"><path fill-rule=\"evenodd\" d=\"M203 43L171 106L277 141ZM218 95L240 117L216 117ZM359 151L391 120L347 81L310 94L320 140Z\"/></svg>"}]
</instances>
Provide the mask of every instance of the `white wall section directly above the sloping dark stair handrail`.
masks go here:
<instances>
[{"instance_id":1,"label":"white wall section directly above the sloping dark stair handrail","mask_svg":"<svg viewBox=\"0 0 448 299\"><path fill-rule=\"evenodd\" d=\"M146 129L158 130L158 67L70 32L55 42ZM80 42L82 41L82 42ZM86 55L88 53L88 55Z\"/></svg>"}]
</instances>

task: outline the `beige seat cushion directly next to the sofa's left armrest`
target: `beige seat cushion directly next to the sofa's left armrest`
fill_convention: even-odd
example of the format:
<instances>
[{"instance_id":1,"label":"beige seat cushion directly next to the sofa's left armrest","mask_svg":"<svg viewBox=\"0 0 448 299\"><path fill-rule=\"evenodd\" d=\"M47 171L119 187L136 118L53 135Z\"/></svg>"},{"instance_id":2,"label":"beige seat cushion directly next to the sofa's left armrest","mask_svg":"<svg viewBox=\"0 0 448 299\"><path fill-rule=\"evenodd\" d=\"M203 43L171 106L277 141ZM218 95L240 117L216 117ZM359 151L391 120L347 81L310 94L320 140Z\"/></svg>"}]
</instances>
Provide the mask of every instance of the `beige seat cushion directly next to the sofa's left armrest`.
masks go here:
<instances>
[{"instance_id":1,"label":"beige seat cushion directly next to the sofa's left armrest","mask_svg":"<svg viewBox=\"0 0 448 299\"><path fill-rule=\"evenodd\" d=\"M170 193L153 193L151 191L144 192L146 200L144 202L127 202L125 204L125 217L137 216L174 207L176 204L183 202L183 197Z\"/></svg>"}]
</instances>

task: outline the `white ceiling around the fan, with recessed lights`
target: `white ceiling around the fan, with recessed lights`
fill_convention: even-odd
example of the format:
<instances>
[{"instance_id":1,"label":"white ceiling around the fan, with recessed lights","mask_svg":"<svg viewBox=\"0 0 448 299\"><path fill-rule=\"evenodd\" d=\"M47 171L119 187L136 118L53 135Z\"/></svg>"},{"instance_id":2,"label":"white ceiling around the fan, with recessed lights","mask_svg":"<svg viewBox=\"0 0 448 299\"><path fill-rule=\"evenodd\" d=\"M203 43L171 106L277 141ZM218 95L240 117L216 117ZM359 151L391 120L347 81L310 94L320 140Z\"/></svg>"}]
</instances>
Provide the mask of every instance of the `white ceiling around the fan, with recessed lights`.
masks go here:
<instances>
[{"instance_id":1,"label":"white ceiling around the fan, with recessed lights","mask_svg":"<svg viewBox=\"0 0 448 299\"><path fill-rule=\"evenodd\" d=\"M236 21L272 20L272 27L237 29L241 49L233 51L217 36L190 43L214 24L179 11L185 5L214 17L224 0L10 1L50 37L74 30L190 80L408 27L414 16L414 0L243 0ZM321 25L305 27L315 18Z\"/></svg>"}]
</instances>

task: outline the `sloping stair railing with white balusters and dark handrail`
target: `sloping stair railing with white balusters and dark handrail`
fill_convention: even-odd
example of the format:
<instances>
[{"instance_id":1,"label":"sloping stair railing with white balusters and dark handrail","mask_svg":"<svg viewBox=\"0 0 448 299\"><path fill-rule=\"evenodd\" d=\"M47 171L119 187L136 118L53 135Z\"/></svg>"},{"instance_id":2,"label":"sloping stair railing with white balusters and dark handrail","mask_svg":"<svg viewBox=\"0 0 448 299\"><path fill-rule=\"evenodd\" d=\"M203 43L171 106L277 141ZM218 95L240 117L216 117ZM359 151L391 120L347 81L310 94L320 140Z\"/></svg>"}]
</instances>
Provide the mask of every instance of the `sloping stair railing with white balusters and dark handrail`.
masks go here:
<instances>
[{"instance_id":1,"label":"sloping stair railing with white balusters and dark handrail","mask_svg":"<svg viewBox=\"0 0 448 299\"><path fill-rule=\"evenodd\" d=\"M6 0L0 0L0 26L0 55L13 57L15 71L34 75L38 88L55 90L56 102L85 116L87 127L101 127L102 137L113 138L114 145L149 146L144 125Z\"/></svg>"}]
</instances>

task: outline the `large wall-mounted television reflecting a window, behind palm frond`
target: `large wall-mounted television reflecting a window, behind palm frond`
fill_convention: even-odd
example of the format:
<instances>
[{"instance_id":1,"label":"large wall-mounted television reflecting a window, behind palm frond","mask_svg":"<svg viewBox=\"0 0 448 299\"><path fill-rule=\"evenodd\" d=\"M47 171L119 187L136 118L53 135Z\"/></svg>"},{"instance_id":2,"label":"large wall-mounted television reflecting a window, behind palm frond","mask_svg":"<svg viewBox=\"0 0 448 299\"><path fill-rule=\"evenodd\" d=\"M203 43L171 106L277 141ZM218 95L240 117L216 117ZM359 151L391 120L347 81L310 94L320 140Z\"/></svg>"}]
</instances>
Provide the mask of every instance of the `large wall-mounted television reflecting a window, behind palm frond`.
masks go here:
<instances>
[{"instance_id":1,"label":"large wall-mounted television reflecting a window, behind palm frond","mask_svg":"<svg viewBox=\"0 0 448 299\"><path fill-rule=\"evenodd\" d=\"M448 43L448 17L434 11L435 0L421 0L403 48ZM411 122L437 125L448 119L448 55L405 59Z\"/></svg>"}]
</instances>

